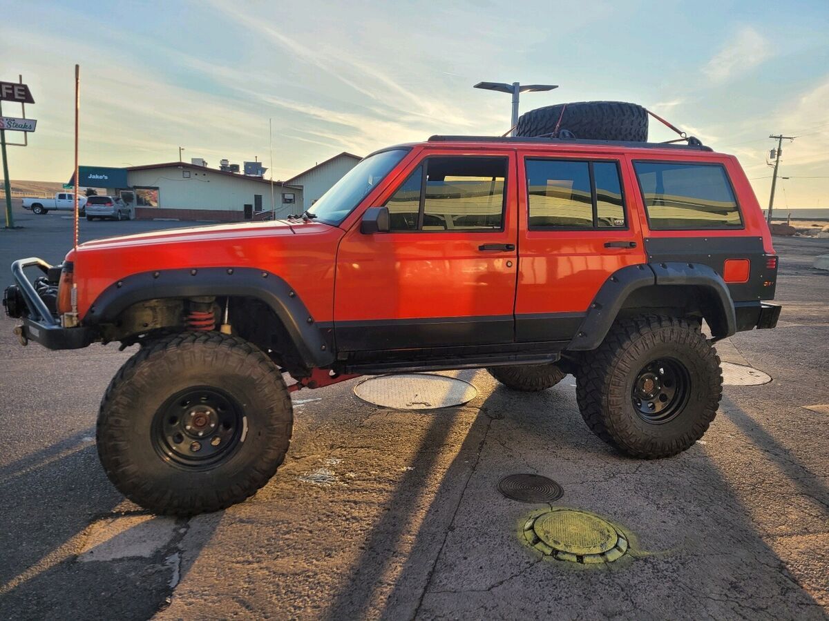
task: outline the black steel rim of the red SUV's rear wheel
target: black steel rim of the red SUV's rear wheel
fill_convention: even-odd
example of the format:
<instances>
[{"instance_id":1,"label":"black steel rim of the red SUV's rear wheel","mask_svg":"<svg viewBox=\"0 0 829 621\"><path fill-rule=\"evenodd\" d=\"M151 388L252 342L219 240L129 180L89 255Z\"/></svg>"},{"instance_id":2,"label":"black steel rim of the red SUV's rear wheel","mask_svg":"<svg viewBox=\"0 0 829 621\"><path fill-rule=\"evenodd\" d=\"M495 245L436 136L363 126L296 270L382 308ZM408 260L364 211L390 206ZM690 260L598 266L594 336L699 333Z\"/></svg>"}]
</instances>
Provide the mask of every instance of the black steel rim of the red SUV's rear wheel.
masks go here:
<instances>
[{"instance_id":1,"label":"black steel rim of the red SUV's rear wheel","mask_svg":"<svg viewBox=\"0 0 829 621\"><path fill-rule=\"evenodd\" d=\"M631 401L643 421L662 423L679 415L688 401L691 376L676 359L647 363L633 381Z\"/></svg>"}]
</instances>

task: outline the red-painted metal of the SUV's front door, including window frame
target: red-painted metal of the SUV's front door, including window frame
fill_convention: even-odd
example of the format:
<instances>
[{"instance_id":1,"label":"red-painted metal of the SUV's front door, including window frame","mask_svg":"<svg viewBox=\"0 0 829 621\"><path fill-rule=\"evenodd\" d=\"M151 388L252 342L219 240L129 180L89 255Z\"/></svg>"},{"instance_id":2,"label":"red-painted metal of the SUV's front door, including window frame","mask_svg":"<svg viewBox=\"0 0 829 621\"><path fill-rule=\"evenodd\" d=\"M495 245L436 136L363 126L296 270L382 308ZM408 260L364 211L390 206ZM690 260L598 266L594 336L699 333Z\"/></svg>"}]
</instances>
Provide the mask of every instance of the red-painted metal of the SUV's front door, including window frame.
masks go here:
<instances>
[{"instance_id":1,"label":"red-painted metal of the SUV's front door, including window frame","mask_svg":"<svg viewBox=\"0 0 829 621\"><path fill-rule=\"evenodd\" d=\"M456 153L442 148L429 155ZM337 253L337 291L334 317L338 321L511 315L516 289L516 250L482 252L484 243L511 243L517 237L515 153L505 149L480 150L478 156L509 157L507 214L503 231L410 233L360 232L352 214L351 229ZM425 154L424 154L425 156ZM399 175L405 180L419 164L407 158ZM361 205L383 205L399 183L388 186L374 200ZM371 198L371 197L370 197ZM511 262L511 266L507 266Z\"/></svg>"}]
</instances>

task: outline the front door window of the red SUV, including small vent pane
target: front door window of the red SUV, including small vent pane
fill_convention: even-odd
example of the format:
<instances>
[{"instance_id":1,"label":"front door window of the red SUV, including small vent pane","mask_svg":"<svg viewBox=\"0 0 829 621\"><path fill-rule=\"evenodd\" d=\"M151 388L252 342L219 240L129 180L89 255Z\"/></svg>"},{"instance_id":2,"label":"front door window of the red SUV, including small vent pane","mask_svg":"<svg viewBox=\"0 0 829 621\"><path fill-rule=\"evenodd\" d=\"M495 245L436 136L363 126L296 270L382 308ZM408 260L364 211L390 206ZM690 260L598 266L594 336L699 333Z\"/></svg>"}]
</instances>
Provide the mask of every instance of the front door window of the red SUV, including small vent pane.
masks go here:
<instances>
[{"instance_id":1,"label":"front door window of the red SUV, including small vent pane","mask_svg":"<svg viewBox=\"0 0 829 621\"><path fill-rule=\"evenodd\" d=\"M386 202L391 230L501 230L507 161L506 157L427 158Z\"/></svg>"}]
</instances>

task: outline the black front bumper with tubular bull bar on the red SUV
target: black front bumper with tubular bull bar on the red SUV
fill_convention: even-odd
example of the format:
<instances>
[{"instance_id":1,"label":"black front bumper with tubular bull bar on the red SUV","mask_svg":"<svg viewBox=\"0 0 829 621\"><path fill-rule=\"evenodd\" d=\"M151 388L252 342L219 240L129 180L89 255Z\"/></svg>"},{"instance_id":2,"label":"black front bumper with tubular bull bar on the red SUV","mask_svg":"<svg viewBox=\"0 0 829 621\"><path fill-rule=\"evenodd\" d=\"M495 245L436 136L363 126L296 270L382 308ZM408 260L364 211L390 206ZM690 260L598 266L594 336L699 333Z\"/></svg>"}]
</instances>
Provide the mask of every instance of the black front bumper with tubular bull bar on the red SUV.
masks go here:
<instances>
[{"instance_id":1,"label":"black front bumper with tubular bull bar on the red SUV","mask_svg":"<svg viewBox=\"0 0 829 621\"><path fill-rule=\"evenodd\" d=\"M32 266L38 267L44 274L51 268L49 263L34 257L18 259L12 263L12 277L26 305L27 316L21 317L22 325L14 330L21 343L25 345L33 340L46 349L80 349L92 343L95 339L94 330L83 326L64 328L51 314L46 303L37 295L32 282L23 273L25 267Z\"/></svg>"}]
</instances>

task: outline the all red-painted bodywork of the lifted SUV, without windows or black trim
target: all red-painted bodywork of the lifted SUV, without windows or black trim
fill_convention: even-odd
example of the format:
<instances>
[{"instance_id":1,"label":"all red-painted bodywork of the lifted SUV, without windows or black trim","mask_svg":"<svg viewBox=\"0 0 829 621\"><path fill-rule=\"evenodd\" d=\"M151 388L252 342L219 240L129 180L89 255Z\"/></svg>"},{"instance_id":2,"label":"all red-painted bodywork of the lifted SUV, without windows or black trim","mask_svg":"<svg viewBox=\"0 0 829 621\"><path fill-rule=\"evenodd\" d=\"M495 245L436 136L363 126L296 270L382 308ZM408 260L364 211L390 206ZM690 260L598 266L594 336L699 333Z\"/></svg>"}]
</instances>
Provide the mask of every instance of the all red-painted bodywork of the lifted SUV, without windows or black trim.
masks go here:
<instances>
[{"instance_id":1,"label":"all red-painted bodywork of the lifted SUV, without windows or black trim","mask_svg":"<svg viewBox=\"0 0 829 621\"><path fill-rule=\"evenodd\" d=\"M508 158L504 229L362 234L359 222L366 209L383 205L419 161L434 155ZM628 229L528 230L526 156L618 161ZM723 164L745 231L651 231L633 172L635 159ZM390 320L584 312L611 273L647 262L644 238L734 234L762 238L766 253L773 254L763 214L733 156L610 145L427 142L414 145L339 227L277 221L163 230L85 243L67 258L75 263L81 319L104 289L134 273L255 267L284 278L319 322ZM607 241L636 247L604 248ZM483 243L511 243L516 249L482 252Z\"/></svg>"}]
</instances>

